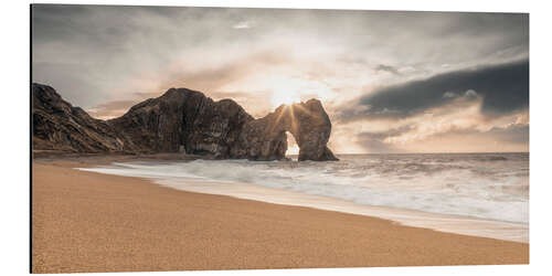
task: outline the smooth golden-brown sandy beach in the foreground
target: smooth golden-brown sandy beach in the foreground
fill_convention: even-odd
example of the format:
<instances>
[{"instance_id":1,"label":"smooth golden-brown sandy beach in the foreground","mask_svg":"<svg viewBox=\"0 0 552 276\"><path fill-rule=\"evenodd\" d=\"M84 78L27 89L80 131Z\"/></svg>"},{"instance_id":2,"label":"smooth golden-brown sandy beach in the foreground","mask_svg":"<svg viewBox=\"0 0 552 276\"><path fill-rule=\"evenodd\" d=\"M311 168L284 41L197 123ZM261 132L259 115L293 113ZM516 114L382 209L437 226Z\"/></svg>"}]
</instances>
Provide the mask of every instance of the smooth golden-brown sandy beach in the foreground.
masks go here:
<instances>
[{"instance_id":1,"label":"smooth golden-brown sandy beach in the foreground","mask_svg":"<svg viewBox=\"0 0 552 276\"><path fill-rule=\"evenodd\" d=\"M529 263L529 244L72 169L91 164L33 162L33 273Z\"/></svg>"}]
</instances>

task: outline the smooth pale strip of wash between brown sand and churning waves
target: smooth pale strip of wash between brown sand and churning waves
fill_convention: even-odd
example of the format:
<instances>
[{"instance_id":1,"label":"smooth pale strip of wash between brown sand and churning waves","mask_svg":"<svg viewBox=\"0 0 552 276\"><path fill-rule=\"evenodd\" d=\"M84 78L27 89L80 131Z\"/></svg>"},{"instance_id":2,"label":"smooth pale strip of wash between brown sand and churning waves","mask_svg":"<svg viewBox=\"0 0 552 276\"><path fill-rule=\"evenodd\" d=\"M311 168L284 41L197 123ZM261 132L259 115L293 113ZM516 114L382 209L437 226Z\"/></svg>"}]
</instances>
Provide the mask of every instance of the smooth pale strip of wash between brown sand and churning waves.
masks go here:
<instances>
[{"instance_id":1,"label":"smooth pale strip of wash between brown sand and churning waves","mask_svg":"<svg viewBox=\"0 0 552 276\"><path fill-rule=\"evenodd\" d=\"M301 193L286 189L276 189L230 180L212 180L197 177L179 177L178 179L163 178L153 171L151 171L153 172L153 174L151 174L149 170L144 171L140 169L128 169L127 166L131 164L132 162L113 162L108 166L102 164L94 166L93 168L86 167L74 169L107 176L136 177L180 191L226 195L234 199L254 200L273 204L306 206L323 211L365 215L390 220L405 226L415 226L453 234L490 237L529 244L528 223L498 221L461 214L425 212L392 206L364 205L327 195ZM227 183L232 184L229 185Z\"/></svg>"}]
</instances>

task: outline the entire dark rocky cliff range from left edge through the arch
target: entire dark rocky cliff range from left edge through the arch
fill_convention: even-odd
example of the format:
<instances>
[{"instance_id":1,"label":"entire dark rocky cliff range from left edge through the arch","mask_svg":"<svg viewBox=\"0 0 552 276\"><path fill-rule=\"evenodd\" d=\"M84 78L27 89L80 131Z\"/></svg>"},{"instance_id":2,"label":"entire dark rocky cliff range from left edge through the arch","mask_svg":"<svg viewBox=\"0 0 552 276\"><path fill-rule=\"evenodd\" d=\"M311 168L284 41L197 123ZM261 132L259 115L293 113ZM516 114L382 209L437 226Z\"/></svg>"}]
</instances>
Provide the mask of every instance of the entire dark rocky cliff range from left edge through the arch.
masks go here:
<instances>
[{"instance_id":1,"label":"entire dark rocky cliff range from left edge through the arch","mask_svg":"<svg viewBox=\"0 0 552 276\"><path fill-rule=\"evenodd\" d=\"M215 158L278 160L286 131L299 160L337 160L326 147L331 123L319 100L280 106L254 119L232 99L214 102L171 88L132 106L121 117L94 119L45 85L33 84L33 149L73 152L187 152Z\"/></svg>"}]
</instances>

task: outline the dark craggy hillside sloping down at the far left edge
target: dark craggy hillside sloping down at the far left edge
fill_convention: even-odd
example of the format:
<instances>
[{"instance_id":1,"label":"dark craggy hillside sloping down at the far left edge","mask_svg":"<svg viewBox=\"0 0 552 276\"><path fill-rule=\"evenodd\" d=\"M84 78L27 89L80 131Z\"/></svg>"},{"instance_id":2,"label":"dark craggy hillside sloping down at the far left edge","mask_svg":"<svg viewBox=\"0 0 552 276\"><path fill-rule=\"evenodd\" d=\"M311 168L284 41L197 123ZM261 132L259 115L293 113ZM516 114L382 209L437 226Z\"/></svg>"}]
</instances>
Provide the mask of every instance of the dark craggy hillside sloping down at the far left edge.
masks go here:
<instances>
[{"instance_id":1,"label":"dark craggy hillside sloping down at the far left edge","mask_svg":"<svg viewBox=\"0 0 552 276\"><path fill-rule=\"evenodd\" d=\"M33 150L65 152L135 152L129 139L105 121L73 107L54 91L32 85Z\"/></svg>"}]
</instances>

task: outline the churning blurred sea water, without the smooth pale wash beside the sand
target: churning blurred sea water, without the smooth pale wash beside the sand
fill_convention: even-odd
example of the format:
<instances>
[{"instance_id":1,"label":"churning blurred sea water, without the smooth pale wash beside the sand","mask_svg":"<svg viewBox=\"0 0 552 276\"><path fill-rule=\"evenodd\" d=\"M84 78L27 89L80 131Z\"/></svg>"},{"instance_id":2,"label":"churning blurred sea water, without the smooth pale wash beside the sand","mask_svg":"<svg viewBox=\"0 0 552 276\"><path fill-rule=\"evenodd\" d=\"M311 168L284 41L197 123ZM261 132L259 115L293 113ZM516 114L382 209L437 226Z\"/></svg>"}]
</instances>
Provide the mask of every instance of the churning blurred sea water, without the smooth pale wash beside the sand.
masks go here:
<instances>
[{"instance_id":1,"label":"churning blurred sea water, without the smooth pale wash beside the sand","mask_svg":"<svg viewBox=\"0 0 552 276\"><path fill-rule=\"evenodd\" d=\"M495 157L353 156L341 157L339 162L194 160L116 163L115 169L140 177L241 182L364 205L528 223L529 159ZM489 163L490 158L496 161Z\"/></svg>"}]
</instances>

